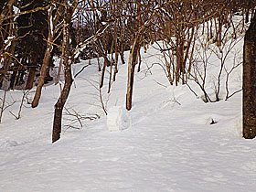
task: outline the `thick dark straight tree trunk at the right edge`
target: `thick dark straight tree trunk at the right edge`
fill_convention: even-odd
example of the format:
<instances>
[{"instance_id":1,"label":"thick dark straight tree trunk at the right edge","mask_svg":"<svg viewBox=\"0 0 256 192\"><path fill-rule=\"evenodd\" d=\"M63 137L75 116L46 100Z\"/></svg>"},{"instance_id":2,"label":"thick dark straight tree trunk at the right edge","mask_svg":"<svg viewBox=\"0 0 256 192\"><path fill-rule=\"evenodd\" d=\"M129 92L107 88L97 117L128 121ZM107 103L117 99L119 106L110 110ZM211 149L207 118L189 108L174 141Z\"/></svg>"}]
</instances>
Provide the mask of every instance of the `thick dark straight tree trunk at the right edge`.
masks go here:
<instances>
[{"instance_id":1,"label":"thick dark straight tree trunk at the right edge","mask_svg":"<svg viewBox=\"0 0 256 192\"><path fill-rule=\"evenodd\" d=\"M246 32L243 50L243 137L256 136L256 15Z\"/></svg>"}]
</instances>

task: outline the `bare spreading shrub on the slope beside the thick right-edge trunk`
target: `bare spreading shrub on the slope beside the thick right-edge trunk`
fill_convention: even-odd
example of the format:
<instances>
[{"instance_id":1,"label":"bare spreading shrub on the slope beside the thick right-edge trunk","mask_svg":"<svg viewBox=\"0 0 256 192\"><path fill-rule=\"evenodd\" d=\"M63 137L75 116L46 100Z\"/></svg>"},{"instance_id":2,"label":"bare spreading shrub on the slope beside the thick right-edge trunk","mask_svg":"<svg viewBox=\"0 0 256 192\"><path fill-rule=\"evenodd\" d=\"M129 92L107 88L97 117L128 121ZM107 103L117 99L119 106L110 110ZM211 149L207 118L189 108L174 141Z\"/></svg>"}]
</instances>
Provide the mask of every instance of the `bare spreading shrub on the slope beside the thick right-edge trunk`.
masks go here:
<instances>
[{"instance_id":1,"label":"bare spreading shrub on the slope beside the thick right-edge trunk","mask_svg":"<svg viewBox=\"0 0 256 192\"><path fill-rule=\"evenodd\" d=\"M240 25L239 23L236 27L239 28ZM229 77L241 64L240 53L235 47L240 43L240 40L243 39L243 33L239 30L234 31L234 28L231 27L223 28L218 45L215 44L215 41L208 41L207 38L201 37L198 38L198 44L195 47L195 53L197 55L193 62L192 72L188 77L190 80L197 83L198 87L203 92L203 97L201 98L205 102L214 102L224 99L220 95L224 87L226 91L225 100L228 100L230 96L240 91L234 91L234 94L229 94ZM235 37L234 33L236 34ZM231 61L233 65L228 69L227 62ZM208 74L208 69L210 68L215 68L216 72ZM189 86L189 89L192 90L191 86ZM214 92L213 94L212 91ZM195 92L196 91L194 91L194 93Z\"/></svg>"}]
</instances>

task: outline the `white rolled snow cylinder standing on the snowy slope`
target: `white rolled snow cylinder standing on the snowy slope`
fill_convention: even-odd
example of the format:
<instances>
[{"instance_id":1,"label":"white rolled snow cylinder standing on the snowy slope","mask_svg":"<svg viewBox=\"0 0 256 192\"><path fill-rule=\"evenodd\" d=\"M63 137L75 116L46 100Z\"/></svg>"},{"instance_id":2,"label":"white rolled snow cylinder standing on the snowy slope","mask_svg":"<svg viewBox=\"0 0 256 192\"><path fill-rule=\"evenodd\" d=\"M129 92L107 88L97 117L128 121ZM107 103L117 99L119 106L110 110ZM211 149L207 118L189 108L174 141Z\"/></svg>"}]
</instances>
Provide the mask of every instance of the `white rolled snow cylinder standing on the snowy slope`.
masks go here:
<instances>
[{"instance_id":1,"label":"white rolled snow cylinder standing on the snowy slope","mask_svg":"<svg viewBox=\"0 0 256 192\"><path fill-rule=\"evenodd\" d=\"M132 126L132 117L122 106L114 106L108 111L107 125L110 132L121 132Z\"/></svg>"}]
</instances>

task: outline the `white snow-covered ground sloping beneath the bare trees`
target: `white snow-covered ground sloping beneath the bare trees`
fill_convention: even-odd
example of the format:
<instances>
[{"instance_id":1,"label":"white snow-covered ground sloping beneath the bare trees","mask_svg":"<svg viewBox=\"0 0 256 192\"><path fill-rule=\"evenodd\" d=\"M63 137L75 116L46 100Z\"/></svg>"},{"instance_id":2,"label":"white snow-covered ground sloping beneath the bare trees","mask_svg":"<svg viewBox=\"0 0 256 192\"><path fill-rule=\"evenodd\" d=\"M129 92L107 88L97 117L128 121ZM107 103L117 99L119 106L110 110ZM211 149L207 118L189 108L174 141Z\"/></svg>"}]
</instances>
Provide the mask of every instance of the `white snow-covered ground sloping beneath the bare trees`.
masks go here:
<instances>
[{"instance_id":1,"label":"white snow-covered ground sloping beneath the bare trees","mask_svg":"<svg viewBox=\"0 0 256 192\"><path fill-rule=\"evenodd\" d=\"M23 91L7 92L8 102L16 103L5 110L0 125L0 191L256 191L256 140L241 137L241 92L228 101L205 103L186 85L170 86L158 65L147 69L145 64L158 59L153 48L143 54L129 112L132 127L123 132L108 131L99 91L92 86L99 80L96 59L76 78L67 108L101 118L83 120L81 129L64 127L55 144L51 128L59 85L43 90L36 109L25 101L19 120L10 112L17 114ZM74 73L87 64L74 65ZM231 91L240 89L240 73L241 68L232 73ZM127 65L121 65L111 95L106 79L107 109L124 106L126 76ZM69 118L64 115L63 125Z\"/></svg>"}]
</instances>

